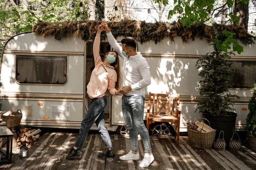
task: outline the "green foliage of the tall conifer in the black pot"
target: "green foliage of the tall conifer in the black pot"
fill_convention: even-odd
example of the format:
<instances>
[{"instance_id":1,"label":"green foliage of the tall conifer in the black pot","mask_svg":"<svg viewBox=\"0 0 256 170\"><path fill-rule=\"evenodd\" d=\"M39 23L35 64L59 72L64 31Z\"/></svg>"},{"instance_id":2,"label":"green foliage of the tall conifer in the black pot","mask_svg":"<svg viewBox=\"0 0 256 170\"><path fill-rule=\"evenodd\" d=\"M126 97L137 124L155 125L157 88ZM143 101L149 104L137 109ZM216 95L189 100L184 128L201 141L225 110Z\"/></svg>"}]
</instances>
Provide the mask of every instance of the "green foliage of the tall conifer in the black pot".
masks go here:
<instances>
[{"instance_id":1,"label":"green foliage of the tall conifer in the black pot","mask_svg":"<svg viewBox=\"0 0 256 170\"><path fill-rule=\"evenodd\" d=\"M230 33L222 32L230 36ZM218 34L216 34L218 36ZM199 76L201 81L199 82L199 90L202 98L198 101L198 108L201 113L211 113L217 115L226 115L227 111L234 111L230 107L232 100L239 98L237 95L232 95L229 88L232 88L232 77L235 70L231 68L232 62L229 62L230 55L234 55L232 52L219 52L217 43L220 40L212 40L214 51L207 53L198 59L196 67L201 69ZM235 40L233 40L235 41ZM230 42L228 42L229 44ZM226 44L221 44L221 48L230 48ZM232 105L233 106L233 105Z\"/></svg>"}]
</instances>

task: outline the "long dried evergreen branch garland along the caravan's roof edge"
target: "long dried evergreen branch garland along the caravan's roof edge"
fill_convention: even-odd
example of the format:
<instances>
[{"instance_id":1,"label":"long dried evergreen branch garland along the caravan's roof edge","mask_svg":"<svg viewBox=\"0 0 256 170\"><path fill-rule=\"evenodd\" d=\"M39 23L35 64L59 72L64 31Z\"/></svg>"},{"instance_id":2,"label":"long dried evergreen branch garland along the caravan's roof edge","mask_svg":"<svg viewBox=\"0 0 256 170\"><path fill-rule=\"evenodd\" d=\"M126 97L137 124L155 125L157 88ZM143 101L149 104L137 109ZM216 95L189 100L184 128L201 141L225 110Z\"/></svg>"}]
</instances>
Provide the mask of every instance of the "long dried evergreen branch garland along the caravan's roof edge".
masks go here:
<instances>
[{"instance_id":1,"label":"long dried evergreen branch garland along the caravan's roof edge","mask_svg":"<svg viewBox=\"0 0 256 170\"><path fill-rule=\"evenodd\" d=\"M54 26L50 23L39 22L33 26L32 31L36 35L47 37L49 35L54 36L56 40L70 37L73 33L77 37L81 37L84 41L94 40L97 27L101 24L101 21L82 20L82 21L70 21L62 26ZM164 38L169 37L171 41L174 41L175 37L181 37L183 43L188 43L190 39L194 40L195 37L203 39L214 39L212 31L215 29L218 32L229 31L236 33L235 39L240 39L244 45L253 44L253 40L256 37L248 34L248 32L237 26L218 25L207 26L204 23L192 24L190 28L184 28L180 22L174 23L146 23L145 21L137 20L122 20L120 22L107 22L113 36L119 37L134 37L138 42L161 42ZM102 38L106 40L105 33L102 34Z\"/></svg>"}]
</instances>

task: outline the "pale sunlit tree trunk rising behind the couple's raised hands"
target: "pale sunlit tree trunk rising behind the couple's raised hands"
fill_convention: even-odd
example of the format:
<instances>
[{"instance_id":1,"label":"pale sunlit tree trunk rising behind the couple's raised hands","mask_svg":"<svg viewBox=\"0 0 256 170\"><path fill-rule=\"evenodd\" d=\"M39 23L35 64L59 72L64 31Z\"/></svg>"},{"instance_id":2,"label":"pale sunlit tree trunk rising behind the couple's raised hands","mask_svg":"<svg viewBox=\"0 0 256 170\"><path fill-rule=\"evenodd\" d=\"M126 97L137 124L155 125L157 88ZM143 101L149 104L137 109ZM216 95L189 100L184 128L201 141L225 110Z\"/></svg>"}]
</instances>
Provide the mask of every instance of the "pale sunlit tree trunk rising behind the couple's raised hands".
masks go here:
<instances>
[{"instance_id":1,"label":"pale sunlit tree trunk rising behind the couple's raised hands","mask_svg":"<svg viewBox=\"0 0 256 170\"><path fill-rule=\"evenodd\" d=\"M119 7L122 6L121 0L105 0L104 6L105 21L121 21L121 7ZM118 10L115 11L115 7L112 6L118 6Z\"/></svg>"}]
</instances>

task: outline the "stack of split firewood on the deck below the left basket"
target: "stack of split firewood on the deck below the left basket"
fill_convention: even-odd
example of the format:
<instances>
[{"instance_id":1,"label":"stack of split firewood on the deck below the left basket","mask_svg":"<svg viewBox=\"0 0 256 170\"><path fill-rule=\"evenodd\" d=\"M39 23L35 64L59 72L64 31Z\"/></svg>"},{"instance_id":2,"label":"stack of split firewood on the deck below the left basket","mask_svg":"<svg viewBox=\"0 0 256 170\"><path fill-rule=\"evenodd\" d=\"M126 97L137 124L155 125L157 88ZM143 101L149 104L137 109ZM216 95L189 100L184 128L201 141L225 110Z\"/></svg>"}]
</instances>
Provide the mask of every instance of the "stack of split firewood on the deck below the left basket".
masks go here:
<instances>
[{"instance_id":1,"label":"stack of split firewood on the deck below the left basket","mask_svg":"<svg viewBox=\"0 0 256 170\"><path fill-rule=\"evenodd\" d=\"M40 129L31 129L30 127L20 127L19 136L17 139L18 147L22 146L22 143L25 142L28 148L32 147L34 142L39 139L41 130Z\"/></svg>"}]
</instances>

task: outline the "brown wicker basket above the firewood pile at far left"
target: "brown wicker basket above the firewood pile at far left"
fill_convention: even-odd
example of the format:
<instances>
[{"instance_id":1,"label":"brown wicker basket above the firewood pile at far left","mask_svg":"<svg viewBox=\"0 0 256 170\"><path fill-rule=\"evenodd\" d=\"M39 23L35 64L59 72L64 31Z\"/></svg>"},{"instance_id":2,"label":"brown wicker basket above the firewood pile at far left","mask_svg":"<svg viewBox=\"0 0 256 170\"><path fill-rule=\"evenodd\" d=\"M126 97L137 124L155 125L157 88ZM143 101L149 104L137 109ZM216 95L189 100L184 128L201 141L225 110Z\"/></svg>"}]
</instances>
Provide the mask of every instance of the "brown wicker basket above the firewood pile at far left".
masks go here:
<instances>
[{"instance_id":1,"label":"brown wicker basket above the firewood pile at far left","mask_svg":"<svg viewBox=\"0 0 256 170\"><path fill-rule=\"evenodd\" d=\"M17 112L12 112L14 116L4 116L3 114L6 112L1 113L1 119L3 119L4 122L6 122L6 127L12 128L20 126L20 120L22 119L22 112L20 110L17 110Z\"/></svg>"}]
</instances>

